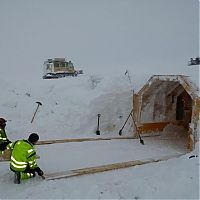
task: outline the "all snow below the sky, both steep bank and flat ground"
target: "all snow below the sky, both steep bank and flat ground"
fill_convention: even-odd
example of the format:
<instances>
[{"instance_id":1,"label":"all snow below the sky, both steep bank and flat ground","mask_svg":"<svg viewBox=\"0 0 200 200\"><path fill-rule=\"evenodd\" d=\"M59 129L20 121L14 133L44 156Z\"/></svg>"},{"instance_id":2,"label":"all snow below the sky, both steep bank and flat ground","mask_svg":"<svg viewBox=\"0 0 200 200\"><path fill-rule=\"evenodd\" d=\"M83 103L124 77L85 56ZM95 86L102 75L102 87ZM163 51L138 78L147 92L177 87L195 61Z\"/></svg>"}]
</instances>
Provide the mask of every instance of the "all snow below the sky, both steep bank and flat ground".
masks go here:
<instances>
[{"instance_id":1,"label":"all snow below the sky, both steep bank and flat ground","mask_svg":"<svg viewBox=\"0 0 200 200\"><path fill-rule=\"evenodd\" d=\"M149 78L149 77L148 77ZM145 83L136 82L138 89ZM40 80L13 84L0 79L1 116L7 122L10 140L27 138L38 132L41 140L119 136L118 132L132 107L132 89L127 77L82 75L76 78ZM30 123L39 108L33 123ZM169 129L170 130L170 129ZM186 142L179 129L165 132L162 137L139 140L108 140L37 146L41 156L39 166L45 173L125 162L144 158L159 158L186 152ZM132 135L128 121L124 136ZM182 135L183 136L183 135ZM197 145L198 147L198 145ZM1 199L198 199L198 148L180 158L127 169L69 179L44 181L40 177L13 184L8 162L0 162Z\"/></svg>"}]
</instances>

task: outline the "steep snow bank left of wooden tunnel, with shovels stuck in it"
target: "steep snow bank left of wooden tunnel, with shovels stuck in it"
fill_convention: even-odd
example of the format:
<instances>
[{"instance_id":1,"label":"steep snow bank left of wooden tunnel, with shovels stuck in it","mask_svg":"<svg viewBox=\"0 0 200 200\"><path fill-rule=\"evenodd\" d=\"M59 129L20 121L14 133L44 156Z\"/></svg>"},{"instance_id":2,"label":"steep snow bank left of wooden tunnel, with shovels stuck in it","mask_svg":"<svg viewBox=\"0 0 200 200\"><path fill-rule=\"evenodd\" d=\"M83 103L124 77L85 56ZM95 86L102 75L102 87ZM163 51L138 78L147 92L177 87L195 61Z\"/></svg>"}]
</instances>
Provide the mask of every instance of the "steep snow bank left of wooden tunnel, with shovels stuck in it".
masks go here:
<instances>
[{"instance_id":1,"label":"steep snow bank left of wooden tunnel, with shovels stuck in it","mask_svg":"<svg viewBox=\"0 0 200 200\"><path fill-rule=\"evenodd\" d=\"M0 85L4 94L1 116L8 120L11 139L31 131L38 132L42 139L93 136L99 113L102 134L116 134L132 106L132 90L125 75L81 75L26 85L1 80ZM31 123L37 101L42 106Z\"/></svg>"}]
</instances>

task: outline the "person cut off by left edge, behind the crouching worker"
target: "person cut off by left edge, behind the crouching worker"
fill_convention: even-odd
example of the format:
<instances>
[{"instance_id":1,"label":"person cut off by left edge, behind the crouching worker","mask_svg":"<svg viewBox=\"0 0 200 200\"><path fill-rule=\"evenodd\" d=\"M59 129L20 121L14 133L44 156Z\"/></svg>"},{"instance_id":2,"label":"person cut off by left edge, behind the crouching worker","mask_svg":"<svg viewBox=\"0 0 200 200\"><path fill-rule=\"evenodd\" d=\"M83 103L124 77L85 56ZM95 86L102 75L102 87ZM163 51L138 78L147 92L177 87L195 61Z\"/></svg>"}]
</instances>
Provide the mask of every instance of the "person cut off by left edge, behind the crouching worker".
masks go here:
<instances>
[{"instance_id":1,"label":"person cut off by left edge, behind the crouching worker","mask_svg":"<svg viewBox=\"0 0 200 200\"><path fill-rule=\"evenodd\" d=\"M5 131L6 122L4 118L0 118L0 156L4 155L11 146L11 141L7 138Z\"/></svg>"}]
</instances>

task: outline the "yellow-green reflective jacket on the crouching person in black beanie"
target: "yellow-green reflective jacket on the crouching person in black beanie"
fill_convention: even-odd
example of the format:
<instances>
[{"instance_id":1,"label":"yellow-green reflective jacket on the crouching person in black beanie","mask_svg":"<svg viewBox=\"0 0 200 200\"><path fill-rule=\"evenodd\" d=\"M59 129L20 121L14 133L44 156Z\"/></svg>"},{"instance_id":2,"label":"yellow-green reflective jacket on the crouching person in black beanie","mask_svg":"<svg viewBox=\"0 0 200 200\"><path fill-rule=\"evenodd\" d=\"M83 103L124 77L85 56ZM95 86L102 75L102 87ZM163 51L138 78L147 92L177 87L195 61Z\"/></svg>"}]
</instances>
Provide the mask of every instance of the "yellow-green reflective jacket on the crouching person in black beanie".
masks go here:
<instances>
[{"instance_id":1,"label":"yellow-green reflective jacket on the crouching person in black beanie","mask_svg":"<svg viewBox=\"0 0 200 200\"><path fill-rule=\"evenodd\" d=\"M12 144L11 148L11 170L23 172L26 169L38 167L35 148L28 140L18 140Z\"/></svg>"}]
</instances>

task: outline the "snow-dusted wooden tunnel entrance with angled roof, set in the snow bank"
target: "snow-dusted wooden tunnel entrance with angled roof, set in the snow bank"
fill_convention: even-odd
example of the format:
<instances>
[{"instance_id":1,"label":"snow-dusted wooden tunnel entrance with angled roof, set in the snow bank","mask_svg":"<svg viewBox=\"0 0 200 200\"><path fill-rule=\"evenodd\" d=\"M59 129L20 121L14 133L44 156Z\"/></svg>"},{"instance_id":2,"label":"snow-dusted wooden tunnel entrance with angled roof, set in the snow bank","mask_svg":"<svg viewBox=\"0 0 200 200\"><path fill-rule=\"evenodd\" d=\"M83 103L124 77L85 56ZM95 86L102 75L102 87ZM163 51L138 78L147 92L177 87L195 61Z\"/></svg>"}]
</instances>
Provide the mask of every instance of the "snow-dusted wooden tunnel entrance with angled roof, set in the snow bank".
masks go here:
<instances>
[{"instance_id":1,"label":"snow-dusted wooden tunnel entrance with angled roof, set in the snow bank","mask_svg":"<svg viewBox=\"0 0 200 200\"><path fill-rule=\"evenodd\" d=\"M168 124L187 129L187 148L199 140L200 97L188 76L153 75L133 95L133 114L140 134L162 132Z\"/></svg>"}]
</instances>

